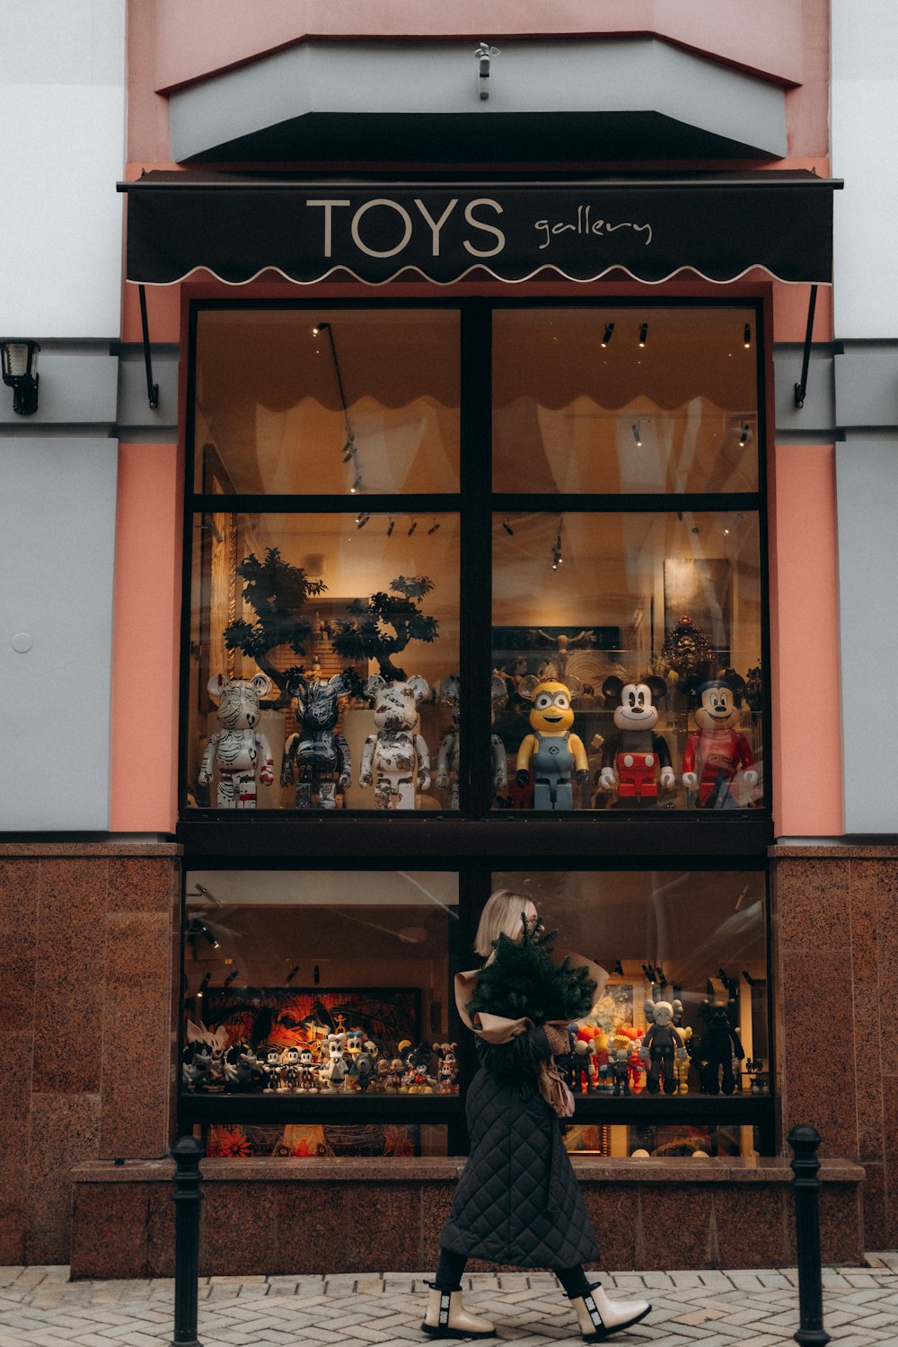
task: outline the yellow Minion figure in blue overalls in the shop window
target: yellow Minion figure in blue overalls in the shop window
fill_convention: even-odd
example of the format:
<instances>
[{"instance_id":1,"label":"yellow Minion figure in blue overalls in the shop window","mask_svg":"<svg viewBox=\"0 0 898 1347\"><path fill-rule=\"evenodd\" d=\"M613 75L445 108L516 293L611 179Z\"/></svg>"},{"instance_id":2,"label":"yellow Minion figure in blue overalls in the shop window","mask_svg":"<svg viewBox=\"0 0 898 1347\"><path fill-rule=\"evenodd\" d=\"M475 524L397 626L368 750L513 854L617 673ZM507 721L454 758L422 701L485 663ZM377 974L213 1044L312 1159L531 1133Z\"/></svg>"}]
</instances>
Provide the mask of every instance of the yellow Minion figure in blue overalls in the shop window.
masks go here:
<instances>
[{"instance_id":1,"label":"yellow Minion figure in blue overalls in the shop window","mask_svg":"<svg viewBox=\"0 0 898 1347\"><path fill-rule=\"evenodd\" d=\"M586 749L579 735L571 733L571 699L580 691L578 682L571 679L571 683L567 687L555 679L528 678L518 688L521 696L530 699L532 733L517 750L514 781L518 787L528 785L533 769L534 810L572 810L571 776L576 773L583 783L590 775Z\"/></svg>"}]
</instances>

